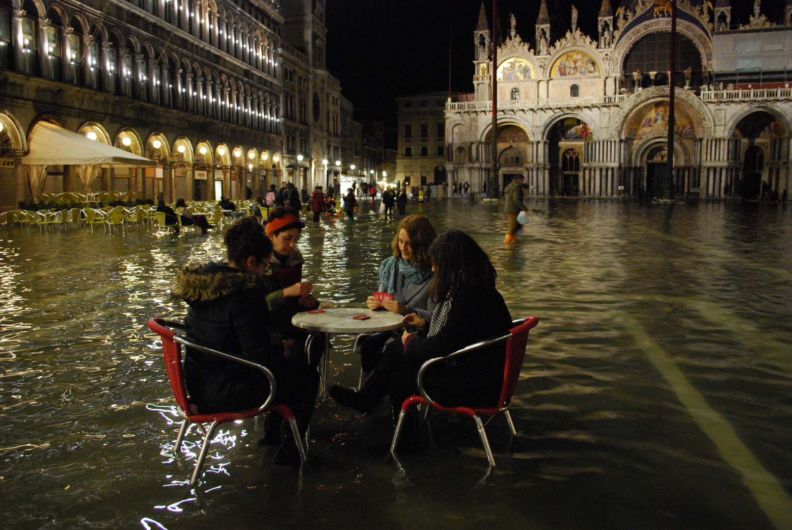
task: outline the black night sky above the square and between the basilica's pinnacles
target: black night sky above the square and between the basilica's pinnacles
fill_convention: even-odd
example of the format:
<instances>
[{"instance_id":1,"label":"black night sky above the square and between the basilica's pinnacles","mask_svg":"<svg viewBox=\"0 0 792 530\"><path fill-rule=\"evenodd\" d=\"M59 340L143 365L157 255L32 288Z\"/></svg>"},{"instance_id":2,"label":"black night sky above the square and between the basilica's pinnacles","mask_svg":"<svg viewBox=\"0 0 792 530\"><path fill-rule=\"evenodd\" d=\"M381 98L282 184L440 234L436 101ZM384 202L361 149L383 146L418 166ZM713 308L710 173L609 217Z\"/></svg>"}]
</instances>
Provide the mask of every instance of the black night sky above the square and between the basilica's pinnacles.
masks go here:
<instances>
[{"instance_id":1,"label":"black night sky above the square and between the basilica's pinnacles","mask_svg":"<svg viewBox=\"0 0 792 530\"><path fill-rule=\"evenodd\" d=\"M570 28L570 3L547 1L553 39ZM601 3L575 3L578 26L595 40ZM783 3L764 0L762 11L771 19L782 17ZM485 2L490 25L492 4ZM356 119L378 119L393 126L395 97L447 92L449 38L451 92L471 92L473 32L481 5L481 0L327 0L327 66L341 80L341 93L354 104ZM618 5L619 0L611 0L614 12ZM732 24L736 19L747 23L753 1L732 0L732 5ZM516 17L517 33L533 47L539 0L498 1L501 38L508 33L510 12Z\"/></svg>"}]
</instances>

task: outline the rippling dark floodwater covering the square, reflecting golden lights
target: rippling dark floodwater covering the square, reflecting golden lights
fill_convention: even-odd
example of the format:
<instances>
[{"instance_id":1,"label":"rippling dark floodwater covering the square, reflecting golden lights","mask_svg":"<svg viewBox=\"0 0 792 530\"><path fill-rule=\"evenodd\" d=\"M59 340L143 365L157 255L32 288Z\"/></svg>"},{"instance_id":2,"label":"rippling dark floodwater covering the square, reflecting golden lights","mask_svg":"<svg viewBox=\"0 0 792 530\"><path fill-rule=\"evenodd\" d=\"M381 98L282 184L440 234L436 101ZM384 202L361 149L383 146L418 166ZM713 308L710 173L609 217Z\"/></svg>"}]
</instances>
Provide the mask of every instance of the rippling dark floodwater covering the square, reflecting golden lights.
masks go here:
<instances>
[{"instance_id":1,"label":"rippling dark floodwater covering the square, reflecting golden lights","mask_svg":"<svg viewBox=\"0 0 792 530\"><path fill-rule=\"evenodd\" d=\"M361 201L363 203L363 201ZM318 403L310 466L271 463L254 420L222 426L196 491L193 428L173 412L150 316L219 259L219 233L0 233L2 528L792 528L792 205L539 201L506 248L500 203L434 201L440 232L489 252L531 332L508 436L429 416L425 446L386 460L386 413ZM327 307L364 301L398 216L304 230ZM355 384L351 338L333 382Z\"/></svg>"}]
</instances>

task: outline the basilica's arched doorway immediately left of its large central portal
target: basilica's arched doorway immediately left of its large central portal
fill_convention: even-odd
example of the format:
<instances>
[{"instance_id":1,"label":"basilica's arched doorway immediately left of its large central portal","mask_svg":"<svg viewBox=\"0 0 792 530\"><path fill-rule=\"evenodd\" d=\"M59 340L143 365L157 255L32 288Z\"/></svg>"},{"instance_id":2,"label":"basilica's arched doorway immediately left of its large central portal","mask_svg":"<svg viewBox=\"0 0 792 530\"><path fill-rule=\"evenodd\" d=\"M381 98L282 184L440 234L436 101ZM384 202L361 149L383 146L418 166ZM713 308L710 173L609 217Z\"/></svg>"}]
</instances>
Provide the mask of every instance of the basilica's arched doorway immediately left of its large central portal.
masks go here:
<instances>
[{"instance_id":1,"label":"basilica's arched doorway immediately left of its large central portal","mask_svg":"<svg viewBox=\"0 0 792 530\"><path fill-rule=\"evenodd\" d=\"M577 118L555 123L547 133L550 160L550 194L564 197L581 195L581 162L585 141L592 138L588 124Z\"/></svg>"}]
</instances>

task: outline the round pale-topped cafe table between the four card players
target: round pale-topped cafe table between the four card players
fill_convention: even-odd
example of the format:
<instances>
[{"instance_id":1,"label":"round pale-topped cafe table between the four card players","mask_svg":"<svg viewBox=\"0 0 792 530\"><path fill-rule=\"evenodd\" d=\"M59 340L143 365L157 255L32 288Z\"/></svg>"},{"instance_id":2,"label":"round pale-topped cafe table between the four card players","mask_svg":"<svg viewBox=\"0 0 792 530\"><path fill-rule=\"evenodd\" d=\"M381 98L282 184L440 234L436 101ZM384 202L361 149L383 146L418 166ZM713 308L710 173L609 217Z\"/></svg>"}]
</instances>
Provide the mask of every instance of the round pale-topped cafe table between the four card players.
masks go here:
<instances>
[{"instance_id":1,"label":"round pale-topped cafe table between the four card players","mask_svg":"<svg viewBox=\"0 0 792 530\"><path fill-rule=\"evenodd\" d=\"M353 316L369 316L365 320L357 320ZM310 331L305 343L305 354L309 357L311 341L317 333L325 334L325 358L322 360L322 400L327 399L327 374L330 369L330 335L360 335L390 331L402 327L402 315L390 311L371 311L367 308L336 308L324 309L322 312L299 312L291 319L291 324ZM310 362L310 358L308 358Z\"/></svg>"}]
</instances>

